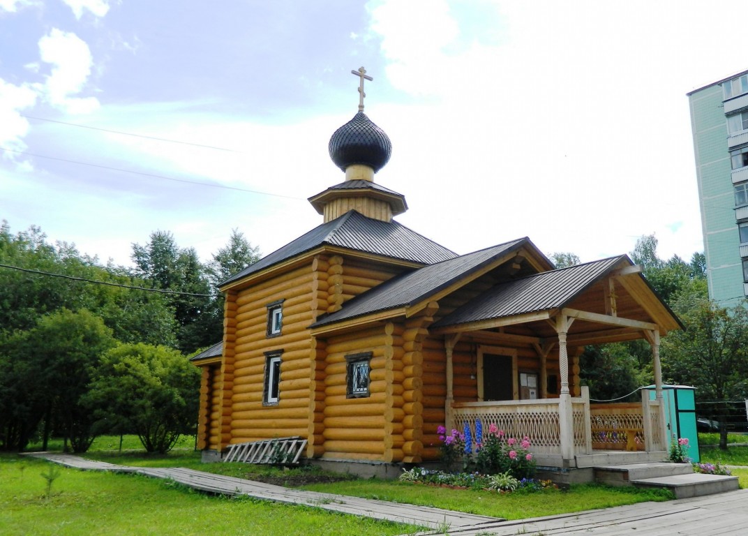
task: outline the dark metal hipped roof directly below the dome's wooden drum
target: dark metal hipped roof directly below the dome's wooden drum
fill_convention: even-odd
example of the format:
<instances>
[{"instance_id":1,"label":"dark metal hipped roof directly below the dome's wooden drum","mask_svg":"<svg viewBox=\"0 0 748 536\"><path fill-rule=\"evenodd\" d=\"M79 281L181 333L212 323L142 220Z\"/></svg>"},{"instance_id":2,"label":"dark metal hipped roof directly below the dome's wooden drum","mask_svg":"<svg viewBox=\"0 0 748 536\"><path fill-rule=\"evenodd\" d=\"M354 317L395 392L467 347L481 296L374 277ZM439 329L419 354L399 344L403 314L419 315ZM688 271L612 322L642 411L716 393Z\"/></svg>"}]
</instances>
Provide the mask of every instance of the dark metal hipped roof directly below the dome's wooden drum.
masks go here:
<instances>
[{"instance_id":1,"label":"dark metal hipped roof directly below the dome's wooden drum","mask_svg":"<svg viewBox=\"0 0 748 536\"><path fill-rule=\"evenodd\" d=\"M411 231L405 225L395 221L381 222L351 210L232 275L221 283L221 287L322 245L339 246L418 264L434 264L457 256L455 252Z\"/></svg>"}]
</instances>

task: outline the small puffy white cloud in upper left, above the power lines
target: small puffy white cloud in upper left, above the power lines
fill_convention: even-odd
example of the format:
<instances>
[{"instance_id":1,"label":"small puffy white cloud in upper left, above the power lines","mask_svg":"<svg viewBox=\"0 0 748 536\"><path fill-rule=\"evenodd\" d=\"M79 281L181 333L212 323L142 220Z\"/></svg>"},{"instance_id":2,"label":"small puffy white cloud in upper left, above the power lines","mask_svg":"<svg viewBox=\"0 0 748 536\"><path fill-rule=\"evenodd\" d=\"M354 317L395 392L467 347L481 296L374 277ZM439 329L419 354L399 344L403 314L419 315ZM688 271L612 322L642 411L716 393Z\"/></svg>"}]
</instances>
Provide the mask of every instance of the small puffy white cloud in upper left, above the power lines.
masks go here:
<instances>
[{"instance_id":1,"label":"small puffy white cloud in upper left, above the power lines","mask_svg":"<svg viewBox=\"0 0 748 536\"><path fill-rule=\"evenodd\" d=\"M76 34L52 28L39 40L42 61L52 64L52 74L44 85L37 85L52 106L65 112L85 114L99 107L95 97L72 97L85 86L93 58L88 45Z\"/></svg>"}]
</instances>

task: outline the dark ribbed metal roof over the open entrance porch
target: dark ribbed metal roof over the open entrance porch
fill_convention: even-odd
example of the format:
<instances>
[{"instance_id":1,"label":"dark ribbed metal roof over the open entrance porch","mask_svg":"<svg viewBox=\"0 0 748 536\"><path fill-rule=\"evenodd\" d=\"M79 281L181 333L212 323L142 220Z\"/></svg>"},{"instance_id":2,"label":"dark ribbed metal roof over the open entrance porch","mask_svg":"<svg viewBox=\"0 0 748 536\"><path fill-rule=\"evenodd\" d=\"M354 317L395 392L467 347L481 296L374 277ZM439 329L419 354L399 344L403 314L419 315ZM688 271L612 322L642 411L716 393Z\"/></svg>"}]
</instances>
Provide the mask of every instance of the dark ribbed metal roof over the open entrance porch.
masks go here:
<instances>
[{"instance_id":1,"label":"dark ribbed metal roof over the open entrance porch","mask_svg":"<svg viewBox=\"0 0 748 536\"><path fill-rule=\"evenodd\" d=\"M447 314L432 324L432 327L454 326L562 308L621 264L631 266L634 263L626 255L620 255L497 284L488 292Z\"/></svg>"}]
</instances>

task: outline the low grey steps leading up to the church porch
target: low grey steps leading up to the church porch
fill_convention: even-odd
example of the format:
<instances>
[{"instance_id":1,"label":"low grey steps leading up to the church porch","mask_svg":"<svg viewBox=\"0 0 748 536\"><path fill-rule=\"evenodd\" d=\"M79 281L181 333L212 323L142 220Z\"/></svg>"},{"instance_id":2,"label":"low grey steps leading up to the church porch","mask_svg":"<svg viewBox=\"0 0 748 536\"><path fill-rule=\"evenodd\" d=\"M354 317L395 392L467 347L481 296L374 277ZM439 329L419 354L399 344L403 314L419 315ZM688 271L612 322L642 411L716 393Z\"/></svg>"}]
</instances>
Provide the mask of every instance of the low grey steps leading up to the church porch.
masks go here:
<instances>
[{"instance_id":1,"label":"low grey steps leading up to the church porch","mask_svg":"<svg viewBox=\"0 0 748 536\"><path fill-rule=\"evenodd\" d=\"M693 472L690 463L628 463L597 466L595 481L609 486L664 487L676 499L738 490L738 477Z\"/></svg>"}]
</instances>

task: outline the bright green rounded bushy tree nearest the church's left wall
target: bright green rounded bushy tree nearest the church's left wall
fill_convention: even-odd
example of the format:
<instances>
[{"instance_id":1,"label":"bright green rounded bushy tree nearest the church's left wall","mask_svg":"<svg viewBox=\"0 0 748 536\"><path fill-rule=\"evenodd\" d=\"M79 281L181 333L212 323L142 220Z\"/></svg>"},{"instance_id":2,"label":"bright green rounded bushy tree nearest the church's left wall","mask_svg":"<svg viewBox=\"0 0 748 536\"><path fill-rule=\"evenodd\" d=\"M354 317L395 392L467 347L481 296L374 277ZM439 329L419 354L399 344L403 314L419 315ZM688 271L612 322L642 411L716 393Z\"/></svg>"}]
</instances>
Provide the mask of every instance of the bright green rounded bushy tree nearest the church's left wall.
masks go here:
<instances>
[{"instance_id":1,"label":"bright green rounded bushy tree nearest the church's left wall","mask_svg":"<svg viewBox=\"0 0 748 536\"><path fill-rule=\"evenodd\" d=\"M120 344L102 357L85 403L99 430L138 434L147 452L171 450L194 433L200 372L168 347Z\"/></svg>"}]
</instances>

